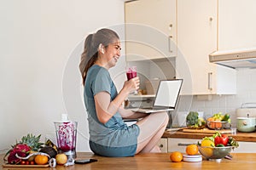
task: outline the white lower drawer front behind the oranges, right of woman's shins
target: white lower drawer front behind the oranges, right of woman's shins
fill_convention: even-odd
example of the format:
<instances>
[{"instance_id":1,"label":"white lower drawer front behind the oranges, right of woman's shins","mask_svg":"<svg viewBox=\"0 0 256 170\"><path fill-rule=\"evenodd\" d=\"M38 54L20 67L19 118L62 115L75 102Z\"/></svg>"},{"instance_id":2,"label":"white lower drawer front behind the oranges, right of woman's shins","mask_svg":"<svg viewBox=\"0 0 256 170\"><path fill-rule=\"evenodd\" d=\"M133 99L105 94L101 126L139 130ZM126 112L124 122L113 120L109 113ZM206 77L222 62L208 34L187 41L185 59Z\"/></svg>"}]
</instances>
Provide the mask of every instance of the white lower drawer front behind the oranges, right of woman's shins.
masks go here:
<instances>
[{"instance_id":1,"label":"white lower drawer front behind the oranges, right of woman's shins","mask_svg":"<svg viewBox=\"0 0 256 170\"><path fill-rule=\"evenodd\" d=\"M168 152L179 151L186 152L186 146L189 144L197 144L199 139L174 139L168 138Z\"/></svg>"}]
</instances>

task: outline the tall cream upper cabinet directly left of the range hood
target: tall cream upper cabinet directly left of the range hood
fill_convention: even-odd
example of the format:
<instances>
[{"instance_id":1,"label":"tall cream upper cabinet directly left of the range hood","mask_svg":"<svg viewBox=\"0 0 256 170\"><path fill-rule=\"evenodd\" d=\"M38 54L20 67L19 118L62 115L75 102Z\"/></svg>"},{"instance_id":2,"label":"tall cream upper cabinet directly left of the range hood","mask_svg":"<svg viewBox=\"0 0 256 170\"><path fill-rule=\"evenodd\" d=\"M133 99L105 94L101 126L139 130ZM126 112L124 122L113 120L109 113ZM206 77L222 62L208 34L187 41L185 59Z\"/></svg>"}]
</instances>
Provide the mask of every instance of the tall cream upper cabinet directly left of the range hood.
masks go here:
<instances>
[{"instance_id":1,"label":"tall cream upper cabinet directly left of the range hood","mask_svg":"<svg viewBox=\"0 0 256 170\"><path fill-rule=\"evenodd\" d=\"M236 71L209 63L218 48L218 1L177 1L177 77L182 94L236 94Z\"/></svg>"}]
</instances>

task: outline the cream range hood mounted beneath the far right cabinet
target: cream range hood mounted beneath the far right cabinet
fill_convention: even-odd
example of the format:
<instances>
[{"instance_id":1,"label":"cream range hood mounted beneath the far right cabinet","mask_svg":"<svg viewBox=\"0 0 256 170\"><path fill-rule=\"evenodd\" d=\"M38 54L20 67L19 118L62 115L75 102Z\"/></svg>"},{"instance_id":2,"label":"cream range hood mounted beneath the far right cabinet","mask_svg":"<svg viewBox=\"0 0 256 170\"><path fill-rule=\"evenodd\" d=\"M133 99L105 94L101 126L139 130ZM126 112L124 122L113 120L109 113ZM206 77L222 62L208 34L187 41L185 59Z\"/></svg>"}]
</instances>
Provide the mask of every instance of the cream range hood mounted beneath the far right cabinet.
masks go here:
<instances>
[{"instance_id":1,"label":"cream range hood mounted beneath the far right cabinet","mask_svg":"<svg viewBox=\"0 0 256 170\"><path fill-rule=\"evenodd\" d=\"M256 47L216 51L209 54L211 63L224 65L233 69L256 68Z\"/></svg>"}]
</instances>

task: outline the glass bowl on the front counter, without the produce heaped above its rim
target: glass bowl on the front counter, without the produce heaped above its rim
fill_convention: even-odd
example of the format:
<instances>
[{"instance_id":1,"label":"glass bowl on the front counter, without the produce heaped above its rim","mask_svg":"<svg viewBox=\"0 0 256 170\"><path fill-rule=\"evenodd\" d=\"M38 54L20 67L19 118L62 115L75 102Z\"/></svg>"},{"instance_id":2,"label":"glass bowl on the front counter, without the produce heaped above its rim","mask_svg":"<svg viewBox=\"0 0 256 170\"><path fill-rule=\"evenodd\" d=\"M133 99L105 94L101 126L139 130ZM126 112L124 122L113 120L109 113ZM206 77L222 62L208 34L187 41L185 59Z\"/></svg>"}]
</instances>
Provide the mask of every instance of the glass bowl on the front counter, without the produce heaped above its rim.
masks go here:
<instances>
[{"instance_id":1,"label":"glass bowl on the front counter, without the produce heaped above its rim","mask_svg":"<svg viewBox=\"0 0 256 170\"><path fill-rule=\"evenodd\" d=\"M235 146L212 147L212 146L198 146L198 150L202 156L209 161L221 161L222 158L228 156Z\"/></svg>"}]
</instances>

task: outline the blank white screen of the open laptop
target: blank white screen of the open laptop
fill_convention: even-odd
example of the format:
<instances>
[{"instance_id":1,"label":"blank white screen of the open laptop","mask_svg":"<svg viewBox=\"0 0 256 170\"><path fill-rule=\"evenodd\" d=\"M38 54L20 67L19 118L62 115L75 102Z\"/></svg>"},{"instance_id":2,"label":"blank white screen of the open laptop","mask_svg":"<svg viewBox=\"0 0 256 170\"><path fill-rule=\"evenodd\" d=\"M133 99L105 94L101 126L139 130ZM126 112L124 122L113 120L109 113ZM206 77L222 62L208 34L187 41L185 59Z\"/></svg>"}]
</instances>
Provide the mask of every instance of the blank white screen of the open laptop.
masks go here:
<instances>
[{"instance_id":1,"label":"blank white screen of the open laptop","mask_svg":"<svg viewBox=\"0 0 256 170\"><path fill-rule=\"evenodd\" d=\"M175 108L182 83L182 79L160 81L154 100L154 106Z\"/></svg>"}]
</instances>

